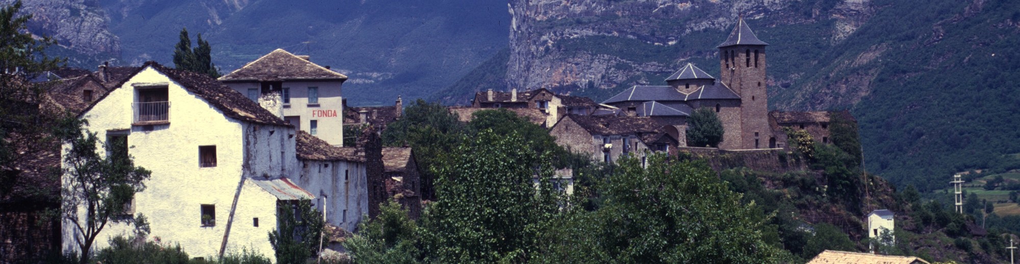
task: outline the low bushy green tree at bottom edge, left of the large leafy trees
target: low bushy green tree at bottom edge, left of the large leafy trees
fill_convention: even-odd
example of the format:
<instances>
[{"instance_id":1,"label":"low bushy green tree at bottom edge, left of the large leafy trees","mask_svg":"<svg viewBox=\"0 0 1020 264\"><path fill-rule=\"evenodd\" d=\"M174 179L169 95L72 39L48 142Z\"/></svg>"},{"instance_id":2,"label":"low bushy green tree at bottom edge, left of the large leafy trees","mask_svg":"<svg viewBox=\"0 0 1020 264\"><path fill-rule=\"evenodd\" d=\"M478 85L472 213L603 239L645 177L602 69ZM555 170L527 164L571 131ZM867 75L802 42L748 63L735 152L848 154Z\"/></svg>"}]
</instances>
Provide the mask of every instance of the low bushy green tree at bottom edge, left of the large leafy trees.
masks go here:
<instances>
[{"instance_id":1,"label":"low bushy green tree at bottom edge, left of the large leafy trees","mask_svg":"<svg viewBox=\"0 0 1020 264\"><path fill-rule=\"evenodd\" d=\"M379 208L378 217L358 224L360 230L344 242L355 263L418 263L421 235L417 223L390 200Z\"/></svg>"}]
</instances>

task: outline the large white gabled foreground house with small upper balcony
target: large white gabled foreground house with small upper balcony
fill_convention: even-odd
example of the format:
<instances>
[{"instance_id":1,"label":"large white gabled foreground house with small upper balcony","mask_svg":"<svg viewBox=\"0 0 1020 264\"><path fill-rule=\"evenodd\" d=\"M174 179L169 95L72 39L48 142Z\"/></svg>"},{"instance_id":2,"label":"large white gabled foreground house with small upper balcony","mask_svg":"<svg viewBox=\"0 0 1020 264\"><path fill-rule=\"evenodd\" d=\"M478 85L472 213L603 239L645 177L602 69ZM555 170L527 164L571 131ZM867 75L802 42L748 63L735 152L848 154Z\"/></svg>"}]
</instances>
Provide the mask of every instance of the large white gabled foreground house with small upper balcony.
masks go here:
<instances>
[{"instance_id":1,"label":"large white gabled foreground house with small upper balcony","mask_svg":"<svg viewBox=\"0 0 1020 264\"><path fill-rule=\"evenodd\" d=\"M367 211L359 159L326 158L321 171L299 160L305 134L277 115L207 75L147 62L81 117L100 138L126 140L135 164L152 171L124 215L144 213L150 237L195 257L249 249L272 258L267 234L282 201L312 199L328 223L349 230ZM63 224L65 251L78 250L71 226ZM132 233L108 225L95 247Z\"/></svg>"}]
</instances>

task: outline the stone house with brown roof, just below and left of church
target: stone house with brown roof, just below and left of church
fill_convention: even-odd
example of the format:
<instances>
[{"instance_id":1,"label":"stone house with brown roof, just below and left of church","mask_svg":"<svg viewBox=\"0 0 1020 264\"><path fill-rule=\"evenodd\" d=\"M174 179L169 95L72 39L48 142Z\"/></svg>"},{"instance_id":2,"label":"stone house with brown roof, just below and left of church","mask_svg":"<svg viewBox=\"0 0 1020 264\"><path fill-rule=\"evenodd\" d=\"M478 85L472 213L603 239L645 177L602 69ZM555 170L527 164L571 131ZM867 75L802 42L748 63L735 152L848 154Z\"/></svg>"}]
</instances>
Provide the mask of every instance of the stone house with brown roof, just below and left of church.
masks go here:
<instances>
[{"instance_id":1,"label":"stone house with brown roof, just below and left of church","mask_svg":"<svg viewBox=\"0 0 1020 264\"><path fill-rule=\"evenodd\" d=\"M620 156L634 155L644 161L648 153L676 148L679 142L665 132L669 128L651 117L567 115L549 134L557 144L589 153L594 160L614 162Z\"/></svg>"}]
</instances>

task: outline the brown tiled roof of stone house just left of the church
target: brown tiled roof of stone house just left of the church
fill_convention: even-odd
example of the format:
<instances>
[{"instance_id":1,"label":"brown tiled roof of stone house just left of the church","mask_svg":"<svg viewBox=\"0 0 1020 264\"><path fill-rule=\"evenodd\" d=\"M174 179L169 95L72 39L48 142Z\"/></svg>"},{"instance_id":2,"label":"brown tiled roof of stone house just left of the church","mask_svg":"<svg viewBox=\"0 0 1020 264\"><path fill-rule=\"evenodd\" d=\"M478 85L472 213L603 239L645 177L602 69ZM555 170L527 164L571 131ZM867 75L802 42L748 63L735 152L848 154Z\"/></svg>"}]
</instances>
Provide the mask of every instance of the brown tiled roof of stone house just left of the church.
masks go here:
<instances>
[{"instance_id":1,"label":"brown tiled roof of stone house just left of the church","mask_svg":"<svg viewBox=\"0 0 1020 264\"><path fill-rule=\"evenodd\" d=\"M628 135L660 132L662 125L649 117L576 116L567 115L593 135ZM559 124L559 123L557 123Z\"/></svg>"}]
</instances>

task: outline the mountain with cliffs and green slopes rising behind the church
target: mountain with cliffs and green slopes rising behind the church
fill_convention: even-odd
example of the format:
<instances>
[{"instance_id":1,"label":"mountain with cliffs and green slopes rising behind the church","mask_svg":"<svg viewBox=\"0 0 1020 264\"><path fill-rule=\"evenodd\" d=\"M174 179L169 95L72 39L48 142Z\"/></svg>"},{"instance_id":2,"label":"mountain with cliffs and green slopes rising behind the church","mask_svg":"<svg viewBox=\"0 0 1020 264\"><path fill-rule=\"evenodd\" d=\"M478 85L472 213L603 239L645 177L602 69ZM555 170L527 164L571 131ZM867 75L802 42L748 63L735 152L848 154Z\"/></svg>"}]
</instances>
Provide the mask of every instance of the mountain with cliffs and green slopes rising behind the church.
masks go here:
<instances>
[{"instance_id":1,"label":"mountain with cliffs and green slopes rising behind the church","mask_svg":"<svg viewBox=\"0 0 1020 264\"><path fill-rule=\"evenodd\" d=\"M770 44L770 109L850 109L869 173L930 190L954 172L1020 169L1004 161L1020 152L1017 1L511 0L510 11L509 54L491 60L506 60L506 72L471 75L505 74L490 87L602 101L665 85L688 62L719 76L715 46L743 16ZM436 98L484 88L458 83Z\"/></svg>"}]
</instances>

